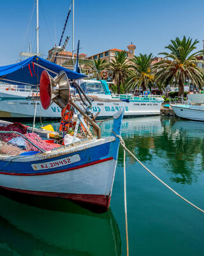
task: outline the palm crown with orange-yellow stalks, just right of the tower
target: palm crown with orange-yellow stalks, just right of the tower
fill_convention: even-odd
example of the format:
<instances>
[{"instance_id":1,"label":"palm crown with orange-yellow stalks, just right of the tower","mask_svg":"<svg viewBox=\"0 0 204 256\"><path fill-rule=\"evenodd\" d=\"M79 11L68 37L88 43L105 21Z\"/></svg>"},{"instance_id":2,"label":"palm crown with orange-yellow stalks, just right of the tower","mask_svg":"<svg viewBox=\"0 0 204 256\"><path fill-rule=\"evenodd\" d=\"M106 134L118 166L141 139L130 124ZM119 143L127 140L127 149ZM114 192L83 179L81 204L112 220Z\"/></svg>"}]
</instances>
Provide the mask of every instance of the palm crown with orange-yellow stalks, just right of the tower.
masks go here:
<instances>
[{"instance_id":1,"label":"palm crown with orange-yellow stalks, just right of the tower","mask_svg":"<svg viewBox=\"0 0 204 256\"><path fill-rule=\"evenodd\" d=\"M133 65L129 65L130 75L128 79L126 79L126 92L137 87L138 89L142 87L143 91L147 90L147 88L151 88L154 86L154 75L151 70L153 55L150 53L141 54L140 56L134 56L131 60Z\"/></svg>"}]
</instances>

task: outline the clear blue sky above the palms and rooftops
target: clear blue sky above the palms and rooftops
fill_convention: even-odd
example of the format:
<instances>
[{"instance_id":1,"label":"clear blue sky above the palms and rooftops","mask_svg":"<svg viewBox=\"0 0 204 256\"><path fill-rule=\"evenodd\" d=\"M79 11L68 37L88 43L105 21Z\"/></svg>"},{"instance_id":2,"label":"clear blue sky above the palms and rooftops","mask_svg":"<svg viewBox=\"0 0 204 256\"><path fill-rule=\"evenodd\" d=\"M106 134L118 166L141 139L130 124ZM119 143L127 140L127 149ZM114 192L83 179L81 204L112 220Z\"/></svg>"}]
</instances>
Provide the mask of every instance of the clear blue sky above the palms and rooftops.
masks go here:
<instances>
[{"instance_id":1,"label":"clear blue sky above the palms and rooftops","mask_svg":"<svg viewBox=\"0 0 204 256\"><path fill-rule=\"evenodd\" d=\"M36 10L31 25L34 0L1 1L0 65L15 63L29 42L36 51ZM71 0L39 0L40 52L57 44ZM111 48L126 49L133 42L138 53L157 56L176 36L198 38L203 48L204 1L202 0L75 0L75 45L81 41L81 52L92 55ZM55 33L56 28L56 33ZM55 36L56 35L56 36ZM71 17L65 36L71 36ZM67 47L71 51L71 37Z\"/></svg>"}]
</instances>

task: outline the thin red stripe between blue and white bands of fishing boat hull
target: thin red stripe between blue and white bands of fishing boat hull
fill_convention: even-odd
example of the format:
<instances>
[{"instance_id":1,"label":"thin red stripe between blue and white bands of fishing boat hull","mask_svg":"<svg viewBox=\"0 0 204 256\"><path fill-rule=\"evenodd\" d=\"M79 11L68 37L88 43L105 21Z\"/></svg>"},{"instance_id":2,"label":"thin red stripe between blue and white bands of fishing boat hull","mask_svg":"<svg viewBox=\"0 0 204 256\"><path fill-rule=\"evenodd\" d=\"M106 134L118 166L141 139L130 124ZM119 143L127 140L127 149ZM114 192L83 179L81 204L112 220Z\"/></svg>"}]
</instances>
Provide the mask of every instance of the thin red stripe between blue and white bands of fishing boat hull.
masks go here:
<instances>
[{"instance_id":1,"label":"thin red stripe between blue and white bands of fishing boat hull","mask_svg":"<svg viewBox=\"0 0 204 256\"><path fill-rule=\"evenodd\" d=\"M41 172L41 173L8 173L8 172L0 172L0 174L20 175L20 176L47 175L47 174L54 174L54 173L59 173L59 172L68 172L68 171L72 171L72 170L77 170L77 169L84 168L84 167L87 167L87 166L91 166L91 165L94 165L94 164L103 163L103 162L109 161L109 160L113 160L113 157L108 157L108 158L101 159L101 160L98 160L98 161L95 161L95 162L92 162L92 163L82 164L80 166L75 166L75 167L71 167L71 168L68 168L68 169L57 170L57 171L53 171L53 172Z\"/></svg>"}]
</instances>

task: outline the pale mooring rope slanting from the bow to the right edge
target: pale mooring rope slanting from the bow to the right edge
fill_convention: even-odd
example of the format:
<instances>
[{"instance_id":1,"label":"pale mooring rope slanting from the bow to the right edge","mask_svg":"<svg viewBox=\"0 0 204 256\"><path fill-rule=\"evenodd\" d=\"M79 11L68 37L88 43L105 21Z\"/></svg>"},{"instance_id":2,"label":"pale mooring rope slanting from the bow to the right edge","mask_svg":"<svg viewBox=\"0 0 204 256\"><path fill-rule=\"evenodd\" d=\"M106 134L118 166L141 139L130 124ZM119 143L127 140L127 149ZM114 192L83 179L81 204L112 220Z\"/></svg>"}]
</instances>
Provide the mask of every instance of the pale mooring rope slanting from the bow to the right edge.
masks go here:
<instances>
[{"instance_id":1,"label":"pale mooring rope slanting from the bow to the right edge","mask_svg":"<svg viewBox=\"0 0 204 256\"><path fill-rule=\"evenodd\" d=\"M113 132L113 131L112 131ZM157 180L159 180L164 186L166 186L166 188L170 189L173 193L175 193L175 195L179 196L182 200L184 200L185 202L187 202L188 204L192 205L194 208L196 208L198 211L201 211L204 213L203 209L201 209L200 207L194 205L193 203L191 203L189 200L187 200L186 198L184 198L184 196L179 195L179 193L177 193L177 191L175 191L174 189L172 189L170 186L168 186L165 182L163 182L163 180L159 179L159 177L157 177L154 173L152 173L142 162L140 162L140 160L138 158L136 158L135 155L133 155L133 153L131 151L129 151L128 148L126 148L126 145L124 143L124 140L122 139L121 136L117 135L115 132L113 132L115 134L115 136L117 136L120 139L120 144L122 145L122 147L124 148L124 150L127 150L129 152L129 154L131 154L132 157L135 158L136 161L138 161L138 163L140 163L143 168L145 168L145 170L147 170L147 172L149 172L150 174L152 174Z\"/></svg>"}]
</instances>

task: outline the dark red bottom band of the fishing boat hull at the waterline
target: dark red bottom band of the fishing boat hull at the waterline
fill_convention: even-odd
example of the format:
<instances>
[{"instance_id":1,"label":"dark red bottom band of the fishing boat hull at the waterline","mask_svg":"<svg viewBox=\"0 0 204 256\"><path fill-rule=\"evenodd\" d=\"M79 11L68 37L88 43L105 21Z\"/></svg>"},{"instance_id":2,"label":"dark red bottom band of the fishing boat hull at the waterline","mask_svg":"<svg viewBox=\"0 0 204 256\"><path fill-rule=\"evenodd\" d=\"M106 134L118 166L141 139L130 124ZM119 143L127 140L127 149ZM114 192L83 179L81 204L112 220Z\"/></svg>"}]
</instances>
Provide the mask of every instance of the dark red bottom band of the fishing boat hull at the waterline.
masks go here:
<instances>
[{"instance_id":1,"label":"dark red bottom band of the fishing boat hull at the waterline","mask_svg":"<svg viewBox=\"0 0 204 256\"><path fill-rule=\"evenodd\" d=\"M0 188L8 189L8 190L19 192L19 193L30 194L30 195L64 198L64 199L69 199L76 202L82 202L85 204L99 205L104 207L106 210L108 210L108 207L110 205L110 196L107 196L107 195L69 194L69 193L57 193L57 192L31 191L31 190L24 190L24 189L7 188L4 186L0 186Z\"/></svg>"}]
</instances>

